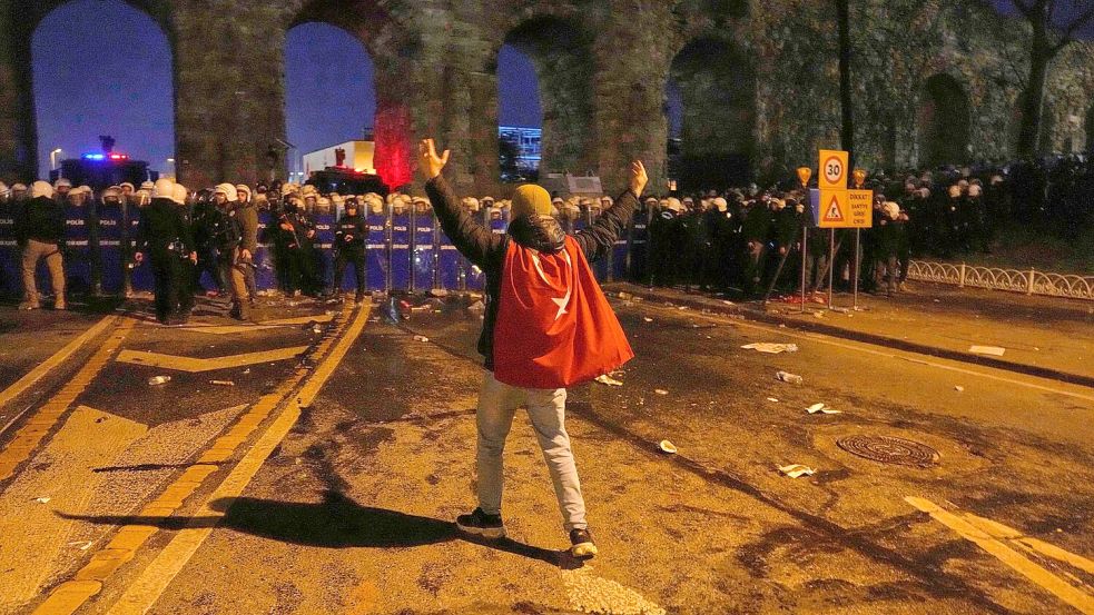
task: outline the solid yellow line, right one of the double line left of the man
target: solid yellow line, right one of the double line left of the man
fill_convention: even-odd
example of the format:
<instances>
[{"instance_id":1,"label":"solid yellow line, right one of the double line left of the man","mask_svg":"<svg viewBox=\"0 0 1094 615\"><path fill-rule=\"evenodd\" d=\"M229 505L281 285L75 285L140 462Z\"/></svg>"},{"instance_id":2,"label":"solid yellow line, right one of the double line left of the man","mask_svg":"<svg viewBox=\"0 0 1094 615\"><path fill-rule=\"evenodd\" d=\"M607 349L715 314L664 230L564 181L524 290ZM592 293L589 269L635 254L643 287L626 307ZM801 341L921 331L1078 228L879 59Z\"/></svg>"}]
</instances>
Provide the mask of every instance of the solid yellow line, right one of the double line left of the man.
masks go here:
<instances>
[{"instance_id":1,"label":"solid yellow line, right one of the double line left of the man","mask_svg":"<svg viewBox=\"0 0 1094 615\"><path fill-rule=\"evenodd\" d=\"M347 304L349 306L352 304ZM246 488L250 479L254 478L258 468L266 462L266 458L274 452L280 442L288 435L288 432L300 417L300 411L312 405L323 385L334 374L335 368L345 358L346 353L356 341L365 324L368 323L371 307L365 307L357 313L353 324L344 335L332 336L322 346L329 347L334 339L338 339L337 345L331 353L322 359L315 373L307 378L296 398L285 406L282 414L277 416L265 434L255 443L255 446L247 452L244 458L233 468L231 473L201 504L198 512L194 515L200 522L194 525L200 527L187 527L178 532L171 542L164 547L164 550L145 568L140 576L108 611L108 615L136 615L147 613L159 599L164 591L190 561L198 547L205 543L206 538L219 525L220 519L227 510L217 510L210 506L211 502L223 498L234 498L239 496ZM341 333L341 331L339 331ZM325 348L322 348L325 350ZM213 523L209 523L211 519Z\"/></svg>"}]
</instances>

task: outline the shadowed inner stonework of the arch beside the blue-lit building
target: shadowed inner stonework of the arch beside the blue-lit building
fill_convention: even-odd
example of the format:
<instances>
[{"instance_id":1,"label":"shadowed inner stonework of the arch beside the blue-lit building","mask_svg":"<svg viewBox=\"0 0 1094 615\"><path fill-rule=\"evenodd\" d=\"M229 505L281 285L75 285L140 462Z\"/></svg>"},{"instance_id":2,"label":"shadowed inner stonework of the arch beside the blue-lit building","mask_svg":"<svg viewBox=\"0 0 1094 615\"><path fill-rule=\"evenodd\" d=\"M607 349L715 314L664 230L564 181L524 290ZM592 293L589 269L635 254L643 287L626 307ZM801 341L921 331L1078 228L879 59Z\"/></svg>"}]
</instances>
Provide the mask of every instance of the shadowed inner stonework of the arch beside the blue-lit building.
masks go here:
<instances>
[{"instance_id":1,"label":"shadowed inner stonework of the arch beside the blue-lit building","mask_svg":"<svg viewBox=\"0 0 1094 615\"><path fill-rule=\"evenodd\" d=\"M496 73L503 44L532 60L543 111L540 171L584 173L598 168L592 36L576 18L540 16L510 29L489 67Z\"/></svg>"}]
</instances>

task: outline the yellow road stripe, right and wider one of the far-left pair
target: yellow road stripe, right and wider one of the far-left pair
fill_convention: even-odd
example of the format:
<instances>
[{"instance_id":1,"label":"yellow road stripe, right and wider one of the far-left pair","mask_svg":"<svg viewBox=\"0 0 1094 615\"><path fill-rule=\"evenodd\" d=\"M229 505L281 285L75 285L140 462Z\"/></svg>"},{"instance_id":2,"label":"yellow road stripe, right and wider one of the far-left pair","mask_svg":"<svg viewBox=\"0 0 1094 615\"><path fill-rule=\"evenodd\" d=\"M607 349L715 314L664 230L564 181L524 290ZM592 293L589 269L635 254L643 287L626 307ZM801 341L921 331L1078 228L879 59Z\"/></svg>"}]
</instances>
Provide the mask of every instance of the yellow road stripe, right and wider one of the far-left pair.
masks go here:
<instances>
[{"instance_id":1,"label":"yellow road stripe, right and wider one of the far-left pair","mask_svg":"<svg viewBox=\"0 0 1094 615\"><path fill-rule=\"evenodd\" d=\"M61 387L61 390L57 395L42 404L38 408L38 411L30 416L27 424L16 432L14 437L8 443L8 446L3 450L0 450L0 480L10 478L14 474L16 467L27 460L30 454L38 448L46 434L57 425L57 421L68 411L72 403L76 401L76 398L99 375L99 370L106 366L110 359L110 355L121 347L126 335L129 334L136 324L137 321L131 318L122 319L120 325L107 338L102 346L96 350L88 363L77 371L76 376Z\"/></svg>"}]
</instances>

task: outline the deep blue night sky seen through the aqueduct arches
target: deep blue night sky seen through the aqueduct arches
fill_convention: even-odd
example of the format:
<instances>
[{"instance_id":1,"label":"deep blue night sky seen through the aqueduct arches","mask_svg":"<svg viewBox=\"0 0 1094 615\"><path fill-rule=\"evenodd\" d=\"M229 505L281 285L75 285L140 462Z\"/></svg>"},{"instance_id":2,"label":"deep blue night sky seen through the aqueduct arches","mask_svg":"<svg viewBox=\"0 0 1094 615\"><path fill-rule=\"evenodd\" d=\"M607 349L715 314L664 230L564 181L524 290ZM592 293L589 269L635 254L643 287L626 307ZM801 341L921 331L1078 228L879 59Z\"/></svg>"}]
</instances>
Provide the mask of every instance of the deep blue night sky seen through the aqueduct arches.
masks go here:
<instances>
[{"instance_id":1,"label":"deep blue night sky seen through the aqueduct arches","mask_svg":"<svg viewBox=\"0 0 1094 615\"><path fill-rule=\"evenodd\" d=\"M993 2L1013 11L1011 0ZM1094 24L1083 38L1094 39ZM117 151L154 169L167 166L175 141L170 50L148 16L122 0L72 0L41 22L32 53L42 175L50 150L62 148L62 158L97 151L99 135L112 135ZM323 23L294 28L285 71L288 140L302 153L359 138L372 126L372 61L345 31ZM500 122L539 127L543 116L529 59L505 47L497 71ZM676 109L679 97L671 93ZM679 135L679 112L671 115L670 132Z\"/></svg>"}]
</instances>

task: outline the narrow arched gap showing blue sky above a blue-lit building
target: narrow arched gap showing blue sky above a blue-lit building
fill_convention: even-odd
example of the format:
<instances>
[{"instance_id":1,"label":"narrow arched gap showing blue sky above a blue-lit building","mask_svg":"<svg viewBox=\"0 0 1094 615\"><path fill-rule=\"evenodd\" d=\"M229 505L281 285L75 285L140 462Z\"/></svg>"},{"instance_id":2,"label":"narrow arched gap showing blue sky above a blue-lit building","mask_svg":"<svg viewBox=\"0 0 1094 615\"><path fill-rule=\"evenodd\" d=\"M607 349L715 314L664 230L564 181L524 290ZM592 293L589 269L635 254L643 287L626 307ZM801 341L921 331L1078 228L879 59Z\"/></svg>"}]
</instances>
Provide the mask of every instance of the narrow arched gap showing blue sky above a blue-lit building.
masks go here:
<instances>
[{"instance_id":1,"label":"narrow arched gap showing blue sky above a blue-lit building","mask_svg":"<svg viewBox=\"0 0 1094 615\"><path fill-rule=\"evenodd\" d=\"M502 181L535 181L543 146L543 107L532 59L512 44L497 52L497 162Z\"/></svg>"}]
</instances>

